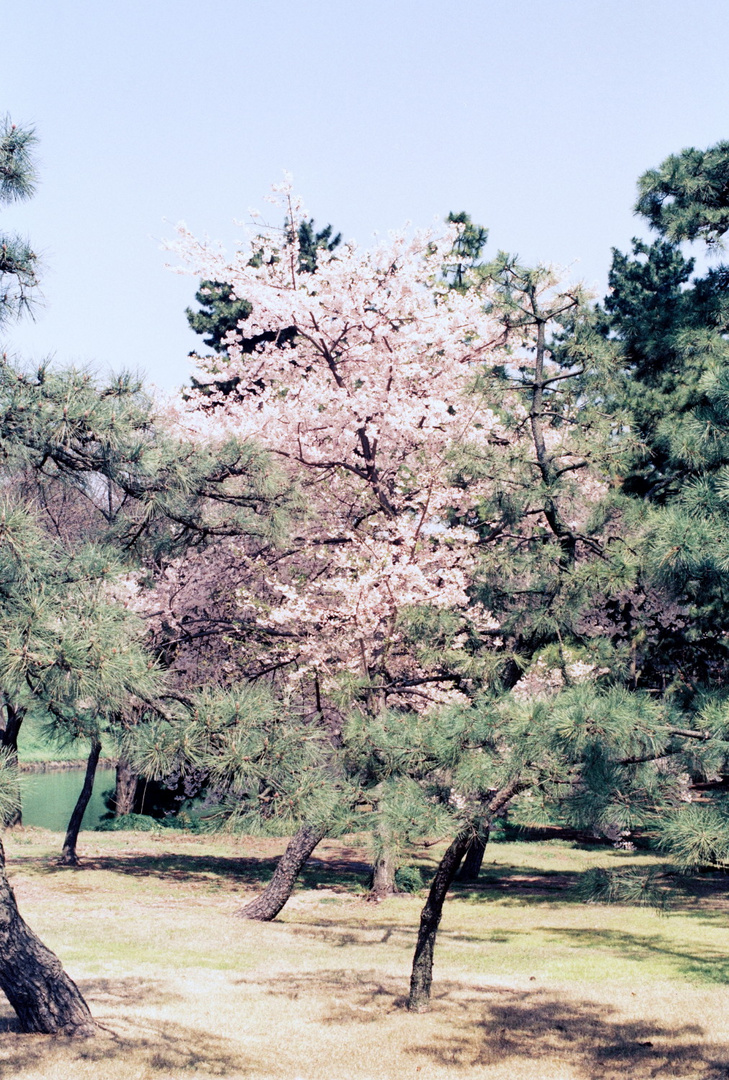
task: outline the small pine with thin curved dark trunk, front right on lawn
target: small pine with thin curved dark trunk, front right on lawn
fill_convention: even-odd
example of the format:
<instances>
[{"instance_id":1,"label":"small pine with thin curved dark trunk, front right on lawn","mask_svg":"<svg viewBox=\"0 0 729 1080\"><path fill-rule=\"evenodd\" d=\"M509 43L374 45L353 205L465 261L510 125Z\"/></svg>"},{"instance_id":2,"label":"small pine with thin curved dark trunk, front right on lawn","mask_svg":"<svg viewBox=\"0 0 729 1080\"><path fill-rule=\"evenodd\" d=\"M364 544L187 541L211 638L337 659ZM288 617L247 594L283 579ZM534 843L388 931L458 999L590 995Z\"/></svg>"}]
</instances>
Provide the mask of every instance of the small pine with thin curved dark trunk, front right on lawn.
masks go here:
<instances>
[{"instance_id":1,"label":"small pine with thin curved dark trunk, front right on lawn","mask_svg":"<svg viewBox=\"0 0 729 1080\"><path fill-rule=\"evenodd\" d=\"M449 728L448 782L440 775L454 839L444 853L420 917L408 1005L429 1008L434 948L443 906L476 828L505 808L527 822L583 829L656 828L675 821L686 798L687 768L726 754L726 727L685 729L683 713L654 696L610 686L607 675L523 698L484 700ZM600 686L600 683L603 684ZM459 730L460 729L460 730Z\"/></svg>"}]
</instances>

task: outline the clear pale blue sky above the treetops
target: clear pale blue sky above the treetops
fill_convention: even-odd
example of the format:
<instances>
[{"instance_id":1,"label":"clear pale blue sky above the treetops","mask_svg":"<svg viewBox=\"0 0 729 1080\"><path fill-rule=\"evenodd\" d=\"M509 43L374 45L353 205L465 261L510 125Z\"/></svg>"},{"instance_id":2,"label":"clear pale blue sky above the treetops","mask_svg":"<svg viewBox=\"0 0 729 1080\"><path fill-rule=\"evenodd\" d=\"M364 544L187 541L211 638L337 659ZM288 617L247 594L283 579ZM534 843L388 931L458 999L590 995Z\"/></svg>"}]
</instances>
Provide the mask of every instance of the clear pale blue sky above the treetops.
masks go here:
<instances>
[{"instance_id":1,"label":"clear pale blue sky above the treetops","mask_svg":"<svg viewBox=\"0 0 729 1080\"><path fill-rule=\"evenodd\" d=\"M283 168L361 243L468 210L602 289L636 177L729 137L726 0L23 0L0 26L0 112L41 139L0 225L44 260L8 345L167 388L200 339L160 241L232 247Z\"/></svg>"}]
</instances>

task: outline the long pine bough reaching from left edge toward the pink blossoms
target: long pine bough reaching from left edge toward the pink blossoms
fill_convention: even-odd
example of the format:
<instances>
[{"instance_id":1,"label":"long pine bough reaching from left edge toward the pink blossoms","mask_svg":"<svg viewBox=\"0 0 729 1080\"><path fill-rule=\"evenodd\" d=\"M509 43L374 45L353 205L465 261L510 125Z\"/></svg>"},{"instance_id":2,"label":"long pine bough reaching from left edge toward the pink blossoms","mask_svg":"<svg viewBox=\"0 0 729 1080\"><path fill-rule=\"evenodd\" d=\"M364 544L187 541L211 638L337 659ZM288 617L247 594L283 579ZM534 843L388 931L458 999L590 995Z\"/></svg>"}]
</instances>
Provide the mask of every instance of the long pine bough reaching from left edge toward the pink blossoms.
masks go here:
<instances>
[{"instance_id":1,"label":"long pine bough reaching from left edge toward the pink blossoms","mask_svg":"<svg viewBox=\"0 0 729 1080\"><path fill-rule=\"evenodd\" d=\"M90 516L99 539L154 558L215 537L280 537L295 507L267 455L233 437L175 432L174 417L126 374L103 383L3 360L0 454L69 540L75 528L87 535Z\"/></svg>"}]
</instances>

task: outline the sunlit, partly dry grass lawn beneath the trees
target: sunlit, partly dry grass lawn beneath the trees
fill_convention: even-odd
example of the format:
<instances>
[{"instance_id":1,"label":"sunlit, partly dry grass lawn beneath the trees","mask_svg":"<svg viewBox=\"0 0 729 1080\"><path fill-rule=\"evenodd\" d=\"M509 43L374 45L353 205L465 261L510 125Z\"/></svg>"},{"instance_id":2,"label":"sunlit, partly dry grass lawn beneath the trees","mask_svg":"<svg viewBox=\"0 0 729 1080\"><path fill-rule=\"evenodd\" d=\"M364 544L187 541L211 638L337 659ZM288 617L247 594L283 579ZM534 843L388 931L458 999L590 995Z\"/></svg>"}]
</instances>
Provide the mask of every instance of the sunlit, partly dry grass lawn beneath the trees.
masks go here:
<instances>
[{"instance_id":1,"label":"sunlit, partly dry grass lawn beneath the trees","mask_svg":"<svg viewBox=\"0 0 729 1080\"><path fill-rule=\"evenodd\" d=\"M6 836L21 910L105 1026L17 1034L3 1080L642 1080L729 1077L729 879L667 915L578 902L590 866L652 856L489 846L449 897L433 1009L404 1009L422 896L364 897L366 851L325 842L272 923L235 918L283 841L165 832ZM422 865L440 853L424 852Z\"/></svg>"}]
</instances>

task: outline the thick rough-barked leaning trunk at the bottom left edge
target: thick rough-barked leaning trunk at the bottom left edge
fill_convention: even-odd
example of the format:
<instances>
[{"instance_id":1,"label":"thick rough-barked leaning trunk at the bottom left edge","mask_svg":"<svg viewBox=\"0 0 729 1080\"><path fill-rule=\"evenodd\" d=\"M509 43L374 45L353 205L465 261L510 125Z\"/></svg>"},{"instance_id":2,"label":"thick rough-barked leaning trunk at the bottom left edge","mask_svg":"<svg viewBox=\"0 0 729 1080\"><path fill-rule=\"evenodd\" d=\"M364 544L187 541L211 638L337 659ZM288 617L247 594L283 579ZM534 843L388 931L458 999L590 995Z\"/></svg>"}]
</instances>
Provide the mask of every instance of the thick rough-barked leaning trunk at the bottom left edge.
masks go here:
<instances>
[{"instance_id":1,"label":"thick rough-barked leaning trunk at the bottom left edge","mask_svg":"<svg viewBox=\"0 0 729 1080\"><path fill-rule=\"evenodd\" d=\"M5 875L1 842L0 989L17 1013L23 1031L87 1036L96 1029L76 983L21 917Z\"/></svg>"}]
</instances>

